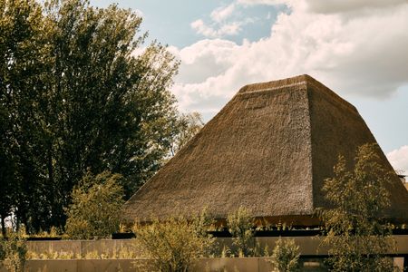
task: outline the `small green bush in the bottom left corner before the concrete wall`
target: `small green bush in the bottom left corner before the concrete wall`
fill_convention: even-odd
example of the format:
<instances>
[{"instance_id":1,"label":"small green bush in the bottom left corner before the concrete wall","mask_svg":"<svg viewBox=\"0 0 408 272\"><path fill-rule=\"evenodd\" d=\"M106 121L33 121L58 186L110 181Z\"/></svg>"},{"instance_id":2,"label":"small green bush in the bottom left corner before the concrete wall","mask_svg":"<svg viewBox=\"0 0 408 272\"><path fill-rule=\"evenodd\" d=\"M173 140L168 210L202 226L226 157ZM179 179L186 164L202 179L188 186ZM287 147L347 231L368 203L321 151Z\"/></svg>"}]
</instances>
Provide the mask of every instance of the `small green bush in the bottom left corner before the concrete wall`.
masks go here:
<instances>
[{"instance_id":1,"label":"small green bush in the bottom left corner before the concrete wall","mask_svg":"<svg viewBox=\"0 0 408 272\"><path fill-rule=\"evenodd\" d=\"M27 257L27 242L24 238L25 230L9 231L7 238L0 243L0 261L8 271L23 272Z\"/></svg>"}]
</instances>

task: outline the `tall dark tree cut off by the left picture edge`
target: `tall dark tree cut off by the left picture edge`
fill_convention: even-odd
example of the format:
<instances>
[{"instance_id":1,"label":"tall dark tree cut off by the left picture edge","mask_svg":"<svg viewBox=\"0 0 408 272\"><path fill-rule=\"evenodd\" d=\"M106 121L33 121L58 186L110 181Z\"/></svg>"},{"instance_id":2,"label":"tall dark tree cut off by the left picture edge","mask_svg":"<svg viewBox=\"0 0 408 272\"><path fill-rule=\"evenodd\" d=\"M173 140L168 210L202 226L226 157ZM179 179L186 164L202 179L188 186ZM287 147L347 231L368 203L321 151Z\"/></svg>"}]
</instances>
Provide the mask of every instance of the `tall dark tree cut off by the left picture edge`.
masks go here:
<instances>
[{"instance_id":1,"label":"tall dark tree cut off by the left picture edge","mask_svg":"<svg viewBox=\"0 0 408 272\"><path fill-rule=\"evenodd\" d=\"M50 46L41 5L0 0L0 216L48 219L41 105ZM49 66L48 66L49 67ZM30 219L31 218L31 219ZM17 226L19 226L17 222Z\"/></svg>"}]
</instances>

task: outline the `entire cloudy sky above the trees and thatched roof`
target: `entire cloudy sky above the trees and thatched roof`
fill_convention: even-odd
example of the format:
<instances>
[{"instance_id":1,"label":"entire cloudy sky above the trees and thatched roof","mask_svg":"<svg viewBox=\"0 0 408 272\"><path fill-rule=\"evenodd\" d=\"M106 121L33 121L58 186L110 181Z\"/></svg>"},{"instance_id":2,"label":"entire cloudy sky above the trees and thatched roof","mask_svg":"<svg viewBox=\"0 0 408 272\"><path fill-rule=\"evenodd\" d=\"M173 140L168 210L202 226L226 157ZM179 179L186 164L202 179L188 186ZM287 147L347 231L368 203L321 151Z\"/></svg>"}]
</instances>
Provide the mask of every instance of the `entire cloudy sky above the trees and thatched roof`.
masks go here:
<instances>
[{"instance_id":1,"label":"entire cloudy sky above the trees and thatched roof","mask_svg":"<svg viewBox=\"0 0 408 272\"><path fill-rule=\"evenodd\" d=\"M143 18L181 61L180 111L209 121L238 89L307 73L355 105L408 174L407 0L92 0Z\"/></svg>"}]
</instances>

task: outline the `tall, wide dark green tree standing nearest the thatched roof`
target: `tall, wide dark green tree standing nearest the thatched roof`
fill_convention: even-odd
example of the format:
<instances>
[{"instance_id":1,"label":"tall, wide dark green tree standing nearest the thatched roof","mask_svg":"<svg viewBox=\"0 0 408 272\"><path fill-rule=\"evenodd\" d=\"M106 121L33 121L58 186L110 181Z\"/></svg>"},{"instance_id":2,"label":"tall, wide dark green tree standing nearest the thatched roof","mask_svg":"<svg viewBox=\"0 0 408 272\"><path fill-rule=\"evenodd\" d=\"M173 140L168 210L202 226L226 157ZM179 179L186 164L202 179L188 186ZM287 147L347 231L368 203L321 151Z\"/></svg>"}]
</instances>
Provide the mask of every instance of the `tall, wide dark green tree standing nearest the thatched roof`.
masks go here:
<instances>
[{"instance_id":1,"label":"tall, wide dark green tree standing nearest the thatched roof","mask_svg":"<svg viewBox=\"0 0 408 272\"><path fill-rule=\"evenodd\" d=\"M137 35L141 17L130 10L95 9L80 0L51 7L56 106L49 116L56 120L50 153L63 189L58 210L69 201L64 188L87 169L121 173L129 198L159 170L170 148L177 115L168 88L178 63L157 43L134 55L145 34Z\"/></svg>"}]
</instances>

